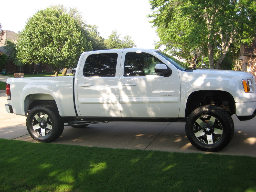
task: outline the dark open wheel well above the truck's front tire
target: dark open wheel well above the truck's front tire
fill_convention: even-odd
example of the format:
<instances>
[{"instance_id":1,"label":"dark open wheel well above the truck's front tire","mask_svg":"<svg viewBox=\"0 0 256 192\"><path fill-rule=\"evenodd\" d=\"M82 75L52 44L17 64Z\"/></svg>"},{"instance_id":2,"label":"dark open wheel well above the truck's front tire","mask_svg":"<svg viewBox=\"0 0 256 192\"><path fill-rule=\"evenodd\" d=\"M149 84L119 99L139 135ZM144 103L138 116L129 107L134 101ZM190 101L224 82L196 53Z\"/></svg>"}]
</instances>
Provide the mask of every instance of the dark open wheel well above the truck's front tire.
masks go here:
<instances>
[{"instance_id":1,"label":"dark open wheel well above the truck's front tire","mask_svg":"<svg viewBox=\"0 0 256 192\"><path fill-rule=\"evenodd\" d=\"M227 111L230 115L235 114L234 98L229 92L219 90L201 90L192 92L186 103L185 117L201 105L214 104L218 105Z\"/></svg>"}]
</instances>

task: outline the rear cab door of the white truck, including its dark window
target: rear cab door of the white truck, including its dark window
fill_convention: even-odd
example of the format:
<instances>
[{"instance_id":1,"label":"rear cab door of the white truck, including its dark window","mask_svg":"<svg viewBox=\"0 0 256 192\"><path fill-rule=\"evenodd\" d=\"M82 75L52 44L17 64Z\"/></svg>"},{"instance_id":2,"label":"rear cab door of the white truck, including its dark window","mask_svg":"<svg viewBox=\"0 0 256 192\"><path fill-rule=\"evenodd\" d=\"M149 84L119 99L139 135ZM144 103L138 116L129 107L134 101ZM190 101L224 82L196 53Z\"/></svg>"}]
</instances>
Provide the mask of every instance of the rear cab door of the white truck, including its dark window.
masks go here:
<instances>
[{"instance_id":1,"label":"rear cab door of the white truck, including its dark window","mask_svg":"<svg viewBox=\"0 0 256 192\"><path fill-rule=\"evenodd\" d=\"M120 117L119 72L122 50L91 51L81 61L77 78L79 116Z\"/></svg>"}]
</instances>

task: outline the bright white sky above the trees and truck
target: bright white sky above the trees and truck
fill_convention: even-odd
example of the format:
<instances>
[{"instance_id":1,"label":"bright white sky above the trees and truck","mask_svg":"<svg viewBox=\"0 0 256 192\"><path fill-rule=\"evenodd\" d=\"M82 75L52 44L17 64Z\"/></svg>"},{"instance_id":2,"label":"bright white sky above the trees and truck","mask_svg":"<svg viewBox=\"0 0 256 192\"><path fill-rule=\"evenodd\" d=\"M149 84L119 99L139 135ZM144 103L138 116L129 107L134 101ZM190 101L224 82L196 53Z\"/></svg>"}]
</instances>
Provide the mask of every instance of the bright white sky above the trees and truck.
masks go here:
<instances>
[{"instance_id":1,"label":"bright white sky above the trees and truck","mask_svg":"<svg viewBox=\"0 0 256 192\"><path fill-rule=\"evenodd\" d=\"M10 4L11 2L11 4ZM3 30L18 33L27 20L39 10L63 4L67 9L78 8L87 24L97 25L100 35L108 39L112 30L122 37L129 35L137 48L154 49L159 38L148 21L151 6L148 0L14 0L1 1L0 23Z\"/></svg>"}]
</instances>

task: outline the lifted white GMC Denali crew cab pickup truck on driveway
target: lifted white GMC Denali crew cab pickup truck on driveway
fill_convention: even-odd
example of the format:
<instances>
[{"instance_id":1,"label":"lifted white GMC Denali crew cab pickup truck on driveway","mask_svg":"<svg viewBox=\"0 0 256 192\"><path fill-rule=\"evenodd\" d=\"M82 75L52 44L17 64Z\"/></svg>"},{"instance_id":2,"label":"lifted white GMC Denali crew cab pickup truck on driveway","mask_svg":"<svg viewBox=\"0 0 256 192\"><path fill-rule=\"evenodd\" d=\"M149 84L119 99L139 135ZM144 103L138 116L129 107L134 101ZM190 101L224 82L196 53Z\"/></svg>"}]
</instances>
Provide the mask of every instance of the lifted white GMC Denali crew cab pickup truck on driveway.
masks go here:
<instances>
[{"instance_id":1,"label":"lifted white GMC Denali crew cab pickup truck on driveway","mask_svg":"<svg viewBox=\"0 0 256 192\"><path fill-rule=\"evenodd\" d=\"M65 125L186 118L189 141L218 151L232 139L232 114L256 115L251 73L187 68L152 49L83 52L75 76L8 79L6 93L6 111L27 116L39 142L57 139Z\"/></svg>"}]
</instances>

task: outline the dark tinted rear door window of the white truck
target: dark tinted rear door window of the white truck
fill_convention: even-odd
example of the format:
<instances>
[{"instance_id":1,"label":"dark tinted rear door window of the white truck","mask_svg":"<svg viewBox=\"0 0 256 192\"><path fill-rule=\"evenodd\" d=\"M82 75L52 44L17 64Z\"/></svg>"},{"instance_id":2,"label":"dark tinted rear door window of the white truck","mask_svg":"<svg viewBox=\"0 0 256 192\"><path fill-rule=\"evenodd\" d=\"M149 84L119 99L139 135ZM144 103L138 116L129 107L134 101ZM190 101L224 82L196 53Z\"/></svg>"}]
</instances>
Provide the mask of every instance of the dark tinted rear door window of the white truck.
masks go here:
<instances>
[{"instance_id":1,"label":"dark tinted rear door window of the white truck","mask_svg":"<svg viewBox=\"0 0 256 192\"><path fill-rule=\"evenodd\" d=\"M89 55L83 75L86 77L115 77L117 53Z\"/></svg>"}]
</instances>

